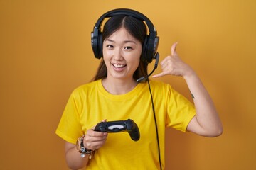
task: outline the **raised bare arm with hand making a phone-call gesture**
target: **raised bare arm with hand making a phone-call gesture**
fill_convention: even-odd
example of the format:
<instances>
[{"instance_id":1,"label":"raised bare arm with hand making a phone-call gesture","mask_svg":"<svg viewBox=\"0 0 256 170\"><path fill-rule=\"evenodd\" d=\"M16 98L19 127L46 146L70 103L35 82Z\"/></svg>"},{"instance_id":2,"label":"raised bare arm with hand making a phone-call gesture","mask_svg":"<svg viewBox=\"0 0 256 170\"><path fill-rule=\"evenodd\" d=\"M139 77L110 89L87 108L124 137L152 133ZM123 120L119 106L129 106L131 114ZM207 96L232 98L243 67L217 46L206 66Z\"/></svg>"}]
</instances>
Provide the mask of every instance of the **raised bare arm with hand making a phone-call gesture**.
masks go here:
<instances>
[{"instance_id":1,"label":"raised bare arm with hand making a phone-call gesture","mask_svg":"<svg viewBox=\"0 0 256 170\"><path fill-rule=\"evenodd\" d=\"M196 116L188 124L187 130L206 137L219 136L223 128L213 101L196 72L178 57L176 45L177 43L172 45L171 55L161 62L162 72L153 77L165 75L183 77L196 107Z\"/></svg>"}]
</instances>

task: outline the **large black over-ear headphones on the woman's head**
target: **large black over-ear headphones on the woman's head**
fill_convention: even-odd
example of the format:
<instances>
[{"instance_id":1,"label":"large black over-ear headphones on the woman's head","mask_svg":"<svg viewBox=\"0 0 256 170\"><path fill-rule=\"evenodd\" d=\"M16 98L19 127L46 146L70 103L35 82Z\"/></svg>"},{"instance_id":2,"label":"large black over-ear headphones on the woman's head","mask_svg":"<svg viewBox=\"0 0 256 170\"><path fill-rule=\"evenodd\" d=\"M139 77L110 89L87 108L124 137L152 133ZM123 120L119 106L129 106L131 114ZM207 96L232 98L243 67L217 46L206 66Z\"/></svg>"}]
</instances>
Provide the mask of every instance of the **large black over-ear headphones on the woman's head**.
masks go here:
<instances>
[{"instance_id":1,"label":"large black over-ear headphones on the woman's head","mask_svg":"<svg viewBox=\"0 0 256 170\"><path fill-rule=\"evenodd\" d=\"M108 11L107 13L104 13L102 16L100 16L100 18L97 20L97 23L93 28L93 32L91 33L91 44L92 44L92 50L94 52L95 57L97 59L100 59L101 57L103 57L102 32L100 31L102 21L105 18L110 18L112 16L117 16L117 15L133 16L134 18L137 18L141 21L146 22L146 26L149 28L149 35L146 35L146 38L144 40L144 45L142 47L141 60L147 63L152 62L152 60L156 58L157 47L159 44L159 37L157 36L156 29L154 28L153 23L151 23L149 18L144 16L144 14L139 13L138 11L134 11L132 9L127 9L127 8L119 8L119 9L114 9L112 11Z\"/></svg>"}]
</instances>

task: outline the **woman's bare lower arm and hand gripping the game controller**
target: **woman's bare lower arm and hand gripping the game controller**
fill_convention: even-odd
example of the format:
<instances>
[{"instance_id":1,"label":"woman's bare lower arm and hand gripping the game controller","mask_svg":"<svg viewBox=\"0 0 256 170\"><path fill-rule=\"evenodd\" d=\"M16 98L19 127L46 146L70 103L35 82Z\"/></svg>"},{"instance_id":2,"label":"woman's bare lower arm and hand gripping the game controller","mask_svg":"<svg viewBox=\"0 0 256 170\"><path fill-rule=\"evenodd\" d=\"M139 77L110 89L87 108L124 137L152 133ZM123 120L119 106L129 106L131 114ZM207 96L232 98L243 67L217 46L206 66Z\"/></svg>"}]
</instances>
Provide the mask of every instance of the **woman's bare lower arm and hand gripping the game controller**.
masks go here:
<instances>
[{"instance_id":1,"label":"woman's bare lower arm and hand gripping the game controller","mask_svg":"<svg viewBox=\"0 0 256 170\"><path fill-rule=\"evenodd\" d=\"M87 130L84 137L84 146L87 149L96 150L102 147L107 140L107 132L95 132L93 129ZM81 169L87 166L89 155L81 157L81 154L76 149L76 145L65 143L65 159L70 169ZM92 158L93 159L93 158Z\"/></svg>"}]
</instances>

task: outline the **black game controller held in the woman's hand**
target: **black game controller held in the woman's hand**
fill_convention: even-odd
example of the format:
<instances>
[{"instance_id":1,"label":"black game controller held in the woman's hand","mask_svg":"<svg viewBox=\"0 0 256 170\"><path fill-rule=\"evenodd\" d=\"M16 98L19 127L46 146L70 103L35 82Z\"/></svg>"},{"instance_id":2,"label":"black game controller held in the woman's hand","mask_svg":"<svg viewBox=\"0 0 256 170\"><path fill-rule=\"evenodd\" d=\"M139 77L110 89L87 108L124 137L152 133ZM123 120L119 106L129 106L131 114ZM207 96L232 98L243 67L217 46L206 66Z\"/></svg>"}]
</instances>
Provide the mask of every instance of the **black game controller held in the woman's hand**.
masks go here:
<instances>
[{"instance_id":1,"label":"black game controller held in the woman's hand","mask_svg":"<svg viewBox=\"0 0 256 170\"><path fill-rule=\"evenodd\" d=\"M94 129L97 132L128 132L132 140L139 140L139 128L132 119L98 123Z\"/></svg>"}]
</instances>

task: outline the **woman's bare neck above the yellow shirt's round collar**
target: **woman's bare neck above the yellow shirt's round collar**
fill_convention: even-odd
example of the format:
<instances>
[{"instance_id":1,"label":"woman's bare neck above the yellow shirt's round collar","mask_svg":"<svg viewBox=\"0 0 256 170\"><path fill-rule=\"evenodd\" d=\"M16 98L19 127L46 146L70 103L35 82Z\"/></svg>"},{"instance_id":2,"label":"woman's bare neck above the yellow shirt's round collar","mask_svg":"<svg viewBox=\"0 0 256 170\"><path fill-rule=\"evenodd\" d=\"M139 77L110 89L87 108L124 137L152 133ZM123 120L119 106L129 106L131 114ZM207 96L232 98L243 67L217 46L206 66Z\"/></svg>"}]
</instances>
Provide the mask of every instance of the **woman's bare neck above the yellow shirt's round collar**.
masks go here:
<instances>
[{"instance_id":1,"label":"woman's bare neck above the yellow shirt's round collar","mask_svg":"<svg viewBox=\"0 0 256 170\"><path fill-rule=\"evenodd\" d=\"M129 81L124 81L120 79L102 79L102 86L110 94L127 94L129 91L132 91L135 86L137 86L137 81L131 79Z\"/></svg>"}]
</instances>

